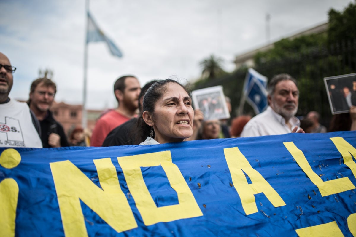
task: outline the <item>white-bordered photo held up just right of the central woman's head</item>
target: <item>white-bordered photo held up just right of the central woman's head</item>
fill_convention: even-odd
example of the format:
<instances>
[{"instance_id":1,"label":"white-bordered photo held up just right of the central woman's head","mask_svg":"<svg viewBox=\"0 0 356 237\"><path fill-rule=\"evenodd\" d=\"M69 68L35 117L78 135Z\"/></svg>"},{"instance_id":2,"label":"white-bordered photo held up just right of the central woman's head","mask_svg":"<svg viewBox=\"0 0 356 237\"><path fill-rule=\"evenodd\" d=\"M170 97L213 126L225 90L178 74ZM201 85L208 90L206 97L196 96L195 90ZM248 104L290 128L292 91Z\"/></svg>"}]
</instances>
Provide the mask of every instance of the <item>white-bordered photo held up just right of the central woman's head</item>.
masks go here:
<instances>
[{"instance_id":1,"label":"white-bordered photo held up just right of the central woman's head","mask_svg":"<svg viewBox=\"0 0 356 237\"><path fill-rule=\"evenodd\" d=\"M192 100L194 108L203 112L204 120L230 118L222 86L195 90Z\"/></svg>"}]
</instances>

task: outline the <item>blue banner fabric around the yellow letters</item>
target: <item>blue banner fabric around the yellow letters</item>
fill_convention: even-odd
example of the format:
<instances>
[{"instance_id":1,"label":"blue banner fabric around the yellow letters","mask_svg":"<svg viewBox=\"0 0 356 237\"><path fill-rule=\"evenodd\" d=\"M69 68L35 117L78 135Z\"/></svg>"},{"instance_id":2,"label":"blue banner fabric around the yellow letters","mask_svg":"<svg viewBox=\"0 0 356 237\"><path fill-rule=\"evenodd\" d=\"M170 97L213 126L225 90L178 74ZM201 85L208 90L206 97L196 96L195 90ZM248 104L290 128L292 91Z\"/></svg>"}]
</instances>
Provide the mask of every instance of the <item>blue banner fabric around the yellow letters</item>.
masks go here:
<instances>
[{"instance_id":1,"label":"blue banner fabric around the yellow letters","mask_svg":"<svg viewBox=\"0 0 356 237\"><path fill-rule=\"evenodd\" d=\"M347 217L356 213L356 190L321 196L283 144L293 141L313 171L323 174L320 177L323 181L348 177L356 185L352 171L330 140L333 137L342 137L356 146L356 132L345 131L147 146L16 148L21 162L12 169L0 165L0 182L13 178L19 185L16 236L64 236L50 163L69 160L100 187L93 160L110 157L121 190L127 194L130 190L117 157L170 151L172 162L182 173L203 215L146 226L135 197L130 196L127 201L138 227L117 233L81 201L88 236L297 236L296 229L332 221L336 221L344 236L352 236ZM224 149L231 147L239 148L286 205L274 207L265 194L259 193L255 195L258 212L246 215L224 155ZM4 150L0 148L0 152ZM158 207L178 204L177 193L161 166L141 167L141 172ZM246 179L251 183L249 177ZM2 215L0 222L4 219L6 216Z\"/></svg>"}]
</instances>

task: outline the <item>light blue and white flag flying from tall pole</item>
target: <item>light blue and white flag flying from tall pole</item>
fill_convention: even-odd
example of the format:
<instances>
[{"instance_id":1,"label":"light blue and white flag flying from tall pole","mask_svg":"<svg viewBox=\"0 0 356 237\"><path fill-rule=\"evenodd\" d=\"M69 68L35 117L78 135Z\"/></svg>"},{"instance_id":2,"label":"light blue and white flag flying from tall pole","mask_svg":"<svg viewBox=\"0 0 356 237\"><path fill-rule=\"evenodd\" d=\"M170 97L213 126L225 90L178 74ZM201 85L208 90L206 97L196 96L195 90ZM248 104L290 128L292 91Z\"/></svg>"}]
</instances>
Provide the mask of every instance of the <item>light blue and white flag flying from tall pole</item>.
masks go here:
<instances>
[{"instance_id":1,"label":"light blue and white flag flying from tall pole","mask_svg":"<svg viewBox=\"0 0 356 237\"><path fill-rule=\"evenodd\" d=\"M98 27L93 17L88 11L88 32L87 32L87 43L89 42L100 42L104 41L109 47L110 53L114 56L122 57L122 53L119 48L109 39L103 31Z\"/></svg>"}]
</instances>

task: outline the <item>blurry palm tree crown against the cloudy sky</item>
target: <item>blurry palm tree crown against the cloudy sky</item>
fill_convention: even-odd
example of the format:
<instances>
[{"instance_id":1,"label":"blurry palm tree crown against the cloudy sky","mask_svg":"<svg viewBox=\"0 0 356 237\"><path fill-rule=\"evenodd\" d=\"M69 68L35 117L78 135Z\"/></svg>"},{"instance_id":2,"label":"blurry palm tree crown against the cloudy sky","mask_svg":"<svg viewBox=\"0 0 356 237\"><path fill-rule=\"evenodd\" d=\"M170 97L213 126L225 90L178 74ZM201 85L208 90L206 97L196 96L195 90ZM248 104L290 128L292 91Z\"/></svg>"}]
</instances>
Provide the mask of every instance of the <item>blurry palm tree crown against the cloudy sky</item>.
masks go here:
<instances>
[{"instance_id":1,"label":"blurry palm tree crown against the cloudy sky","mask_svg":"<svg viewBox=\"0 0 356 237\"><path fill-rule=\"evenodd\" d=\"M224 74L225 71L221 66L223 63L222 58L216 58L214 55L210 55L209 58L204 59L199 63L203 71L201 72L202 77L208 77L209 79L213 79L218 77L221 74Z\"/></svg>"}]
</instances>

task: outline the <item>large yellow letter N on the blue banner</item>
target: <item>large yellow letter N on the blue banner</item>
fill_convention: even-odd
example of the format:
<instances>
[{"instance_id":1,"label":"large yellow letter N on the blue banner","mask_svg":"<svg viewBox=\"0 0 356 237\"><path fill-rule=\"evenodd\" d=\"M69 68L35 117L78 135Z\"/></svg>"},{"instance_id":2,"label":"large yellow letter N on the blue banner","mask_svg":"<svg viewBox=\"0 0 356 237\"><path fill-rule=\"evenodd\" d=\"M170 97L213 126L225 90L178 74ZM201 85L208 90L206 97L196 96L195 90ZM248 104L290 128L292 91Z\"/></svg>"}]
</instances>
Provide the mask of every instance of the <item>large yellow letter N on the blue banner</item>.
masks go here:
<instances>
[{"instance_id":1,"label":"large yellow letter N on the blue banner","mask_svg":"<svg viewBox=\"0 0 356 237\"><path fill-rule=\"evenodd\" d=\"M79 199L117 232L137 227L111 159L94 163L102 189L70 161L50 163L66 237L88 236Z\"/></svg>"}]
</instances>

